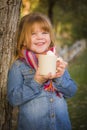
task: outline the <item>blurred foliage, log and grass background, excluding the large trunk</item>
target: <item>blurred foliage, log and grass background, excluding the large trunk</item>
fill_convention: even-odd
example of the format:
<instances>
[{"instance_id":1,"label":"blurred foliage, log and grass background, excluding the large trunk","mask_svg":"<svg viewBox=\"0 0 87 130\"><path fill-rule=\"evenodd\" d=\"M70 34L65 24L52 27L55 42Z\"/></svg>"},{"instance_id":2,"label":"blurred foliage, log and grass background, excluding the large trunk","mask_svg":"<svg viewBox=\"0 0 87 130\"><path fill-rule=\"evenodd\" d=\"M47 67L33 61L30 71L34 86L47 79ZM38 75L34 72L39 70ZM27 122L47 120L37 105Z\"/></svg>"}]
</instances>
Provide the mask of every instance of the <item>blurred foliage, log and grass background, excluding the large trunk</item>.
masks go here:
<instances>
[{"instance_id":1,"label":"blurred foliage, log and grass background, excluding the large trunk","mask_svg":"<svg viewBox=\"0 0 87 130\"><path fill-rule=\"evenodd\" d=\"M58 54L76 81L76 95L67 99L73 130L87 129L87 0L22 0L20 17L46 14L53 25Z\"/></svg>"}]
</instances>

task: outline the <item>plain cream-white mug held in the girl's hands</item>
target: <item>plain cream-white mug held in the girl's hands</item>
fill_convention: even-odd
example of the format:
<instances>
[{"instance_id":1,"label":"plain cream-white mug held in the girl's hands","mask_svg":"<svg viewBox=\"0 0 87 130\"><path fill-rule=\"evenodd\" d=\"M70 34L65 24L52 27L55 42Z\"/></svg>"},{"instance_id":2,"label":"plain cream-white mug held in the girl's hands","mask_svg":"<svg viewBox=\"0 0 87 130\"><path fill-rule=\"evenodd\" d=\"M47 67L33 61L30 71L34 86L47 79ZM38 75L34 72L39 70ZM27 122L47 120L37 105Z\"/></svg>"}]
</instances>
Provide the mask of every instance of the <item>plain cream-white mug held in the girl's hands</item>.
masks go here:
<instances>
[{"instance_id":1,"label":"plain cream-white mug held in the girl's hands","mask_svg":"<svg viewBox=\"0 0 87 130\"><path fill-rule=\"evenodd\" d=\"M39 55L39 71L41 75L47 75L51 73L54 75L56 73L56 55Z\"/></svg>"}]
</instances>

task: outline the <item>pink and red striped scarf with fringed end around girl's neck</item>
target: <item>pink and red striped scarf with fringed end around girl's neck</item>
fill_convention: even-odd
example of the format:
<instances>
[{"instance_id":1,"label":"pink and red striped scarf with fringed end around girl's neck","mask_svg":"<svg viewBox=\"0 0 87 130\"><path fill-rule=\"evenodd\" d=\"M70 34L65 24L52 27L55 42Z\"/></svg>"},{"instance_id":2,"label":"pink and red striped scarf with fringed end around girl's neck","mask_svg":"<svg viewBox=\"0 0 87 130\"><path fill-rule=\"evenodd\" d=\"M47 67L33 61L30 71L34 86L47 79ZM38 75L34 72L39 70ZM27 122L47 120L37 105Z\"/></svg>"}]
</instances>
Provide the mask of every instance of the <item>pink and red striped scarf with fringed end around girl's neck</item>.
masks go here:
<instances>
[{"instance_id":1,"label":"pink and red striped scarf with fringed end around girl's neck","mask_svg":"<svg viewBox=\"0 0 87 130\"><path fill-rule=\"evenodd\" d=\"M50 51L54 52L55 48L50 48ZM23 52L24 54L24 59L26 61L26 63L33 69L37 69L38 68L38 59L35 55L35 53L33 53L32 51L28 51L28 50L24 50ZM46 91L51 91L51 92L56 92L57 95L60 97L60 93L58 92L58 90L55 89L55 87L52 84L52 80L48 80L47 82L44 83L44 90Z\"/></svg>"}]
</instances>

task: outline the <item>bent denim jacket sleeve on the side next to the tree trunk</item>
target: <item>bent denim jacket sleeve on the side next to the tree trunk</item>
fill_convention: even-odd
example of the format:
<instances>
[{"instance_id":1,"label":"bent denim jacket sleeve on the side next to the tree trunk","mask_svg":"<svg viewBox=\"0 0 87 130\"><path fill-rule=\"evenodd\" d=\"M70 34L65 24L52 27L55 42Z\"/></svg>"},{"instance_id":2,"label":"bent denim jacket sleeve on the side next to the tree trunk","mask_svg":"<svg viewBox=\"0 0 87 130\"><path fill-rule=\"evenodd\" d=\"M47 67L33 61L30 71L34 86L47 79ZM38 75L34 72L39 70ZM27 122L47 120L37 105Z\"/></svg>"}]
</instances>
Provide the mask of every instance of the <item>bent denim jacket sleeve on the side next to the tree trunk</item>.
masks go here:
<instances>
[{"instance_id":1,"label":"bent denim jacket sleeve on the side next to the tree trunk","mask_svg":"<svg viewBox=\"0 0 87 130\"><path fill-rule=\"evenodd\" d=\"M33 78L28 85L24 84L23 76L20 68L14 65L8 73L7 97L11 105L21 105L41 92L41 84L37 83Z\"/></svg>"}]
</instances>

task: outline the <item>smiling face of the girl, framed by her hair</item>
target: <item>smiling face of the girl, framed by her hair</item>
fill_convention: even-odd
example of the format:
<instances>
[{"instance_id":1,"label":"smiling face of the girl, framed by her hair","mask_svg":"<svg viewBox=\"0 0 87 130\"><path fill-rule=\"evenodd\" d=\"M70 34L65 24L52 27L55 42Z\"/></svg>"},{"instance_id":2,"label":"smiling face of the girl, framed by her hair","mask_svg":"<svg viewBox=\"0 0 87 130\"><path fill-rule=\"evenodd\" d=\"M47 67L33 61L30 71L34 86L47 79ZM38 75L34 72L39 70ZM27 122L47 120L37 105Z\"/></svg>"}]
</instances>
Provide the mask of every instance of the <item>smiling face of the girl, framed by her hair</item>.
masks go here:
<instances>
[{"instance_id":1,"label":"smiling face of the girl, framed by her hair","mask_svg":"<svg viewBox=\"0 0 87 130\"><path fill-rule=\"evenodd\" d=\"M49 32L42 30L40 26L34 25L34 29L31 33L30 50L38 54L43 54L48 50L50 43Z\"/></svg>"}]
</instances>

